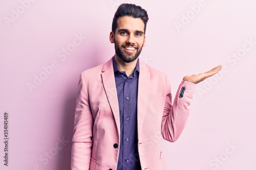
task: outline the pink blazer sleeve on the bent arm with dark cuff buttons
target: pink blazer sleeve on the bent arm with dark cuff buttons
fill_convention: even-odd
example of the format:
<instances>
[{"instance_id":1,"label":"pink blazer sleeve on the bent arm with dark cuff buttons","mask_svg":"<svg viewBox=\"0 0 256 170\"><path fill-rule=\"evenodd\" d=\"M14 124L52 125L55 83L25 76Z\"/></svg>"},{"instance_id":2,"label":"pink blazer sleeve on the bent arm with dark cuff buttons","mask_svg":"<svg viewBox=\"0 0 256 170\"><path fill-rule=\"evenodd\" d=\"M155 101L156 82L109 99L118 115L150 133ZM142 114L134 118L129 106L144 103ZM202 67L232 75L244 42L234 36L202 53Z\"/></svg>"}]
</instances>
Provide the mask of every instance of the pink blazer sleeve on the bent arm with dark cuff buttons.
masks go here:
<instances>
[{"instance_id":1,"label":"pink blazer sleeve on the bent arm with dark cuff buttons","mask_svg":"<svg viewBox=\"0 0 256 170\"><path fill-rule=\"evenodd\" d=\"M196 84L182 81L178 87L172 104L170 84L166 77L166 100L161 124L161 133L165 140L176 141L187 122L190 111L190 103L196 90Z\"/></svg>"}]
</instances>

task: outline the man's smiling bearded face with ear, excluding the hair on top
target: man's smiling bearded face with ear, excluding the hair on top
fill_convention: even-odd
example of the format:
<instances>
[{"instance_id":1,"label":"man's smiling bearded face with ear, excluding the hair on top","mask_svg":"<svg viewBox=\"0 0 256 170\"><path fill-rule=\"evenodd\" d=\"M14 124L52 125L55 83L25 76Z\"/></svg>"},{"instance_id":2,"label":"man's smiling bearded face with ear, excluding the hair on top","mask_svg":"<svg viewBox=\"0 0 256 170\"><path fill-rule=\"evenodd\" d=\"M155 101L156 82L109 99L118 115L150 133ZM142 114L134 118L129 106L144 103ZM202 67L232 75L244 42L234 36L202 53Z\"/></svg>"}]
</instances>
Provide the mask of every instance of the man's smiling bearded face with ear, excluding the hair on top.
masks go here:
<instances>
[{"instance_id":1,"label":"man's smiling bearded face with ear, excluding the hair on top","mask_svg":"<svg viewBox=\"0 0 256 170\"><path fill-rule=\"evenodd\" d=\"M144 22L140 18L119 17L115 34L110 33L110 41L115 43L119 58L127 63L135 61L145 46Z\"/></svg>"}]
</instances>

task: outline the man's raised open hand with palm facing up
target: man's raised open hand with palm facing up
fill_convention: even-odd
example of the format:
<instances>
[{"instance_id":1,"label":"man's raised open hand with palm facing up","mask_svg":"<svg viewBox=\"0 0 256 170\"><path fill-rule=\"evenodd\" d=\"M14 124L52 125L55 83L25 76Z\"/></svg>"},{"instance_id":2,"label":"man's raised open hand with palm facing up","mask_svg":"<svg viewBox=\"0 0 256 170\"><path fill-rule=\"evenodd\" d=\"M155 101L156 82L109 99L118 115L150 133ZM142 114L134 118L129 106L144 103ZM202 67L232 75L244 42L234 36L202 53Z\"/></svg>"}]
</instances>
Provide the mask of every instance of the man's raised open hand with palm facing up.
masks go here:
<instances>
[{"instance_id":1,"label":"man's raised open hand with palm facing up","mask_svg":"<svg viewBox=\"0 0 256 170\"><path fill-rule=\"evenodd\" d=\"M207 72L203 72L200 73L199 75L191 75L191 76L185 76L183 78L184 81L188 81L191 83L200 83L201 81L203 81L204 79L211 77L212 75L215 75L216 73L218 73L218 71L221 69L221 65L212 68L211 70L207 71Z\"/></svg>"}]
</instances>

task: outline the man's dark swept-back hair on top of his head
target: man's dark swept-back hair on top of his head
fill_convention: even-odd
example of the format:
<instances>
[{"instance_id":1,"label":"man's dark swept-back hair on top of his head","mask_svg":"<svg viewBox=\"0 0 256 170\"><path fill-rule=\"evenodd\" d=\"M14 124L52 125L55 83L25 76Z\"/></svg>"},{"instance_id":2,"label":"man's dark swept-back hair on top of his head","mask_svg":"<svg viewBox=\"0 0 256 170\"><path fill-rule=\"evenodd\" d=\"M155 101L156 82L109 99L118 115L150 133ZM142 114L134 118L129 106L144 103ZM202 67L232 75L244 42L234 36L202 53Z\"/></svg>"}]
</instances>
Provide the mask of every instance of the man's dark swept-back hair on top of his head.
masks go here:
<instances>
[{"instance_id":1,"label":"man's dark swept-back hair on top of his head","mask_svg":"<svg viewBox=\"0 0 256 170\"><path fill-rule=\"evenodd\" d=\"M117 19L121 16L131 16L133 18L140 18L144 22L144 34L146 33L146 23L148 16L146 10L135 4L121 4L113 18L112 32L115 34L117 28Z\"/></svg>"}]
</instances>

